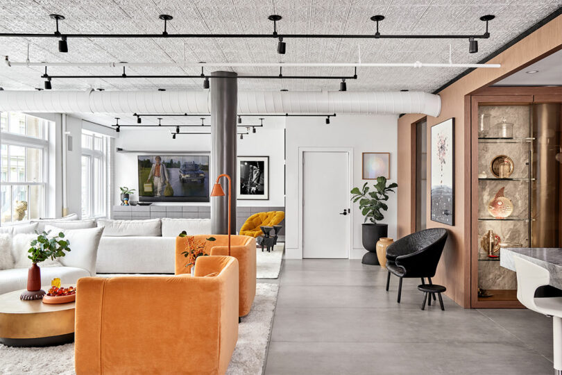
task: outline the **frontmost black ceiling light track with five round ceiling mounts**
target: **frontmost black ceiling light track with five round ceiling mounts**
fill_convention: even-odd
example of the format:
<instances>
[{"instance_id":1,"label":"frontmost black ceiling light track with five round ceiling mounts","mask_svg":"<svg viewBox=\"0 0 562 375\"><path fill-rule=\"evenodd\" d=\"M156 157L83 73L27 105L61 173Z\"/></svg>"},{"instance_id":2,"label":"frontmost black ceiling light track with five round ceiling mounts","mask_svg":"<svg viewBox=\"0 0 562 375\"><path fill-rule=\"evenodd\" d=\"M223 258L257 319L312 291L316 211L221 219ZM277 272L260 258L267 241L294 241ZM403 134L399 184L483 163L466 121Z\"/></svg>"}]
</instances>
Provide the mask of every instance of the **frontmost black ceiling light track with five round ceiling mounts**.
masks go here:
<instances>
[{"instance_id":1,"label":"frontmost black ceiling light track with five round ceiling mounts","mask_svg":"<svg viewBox=\"0 0 562 375\"><path fill-rule=\"evenodd\" d=\"M205 33L205 34L169 34L167 32L167 22L173 17L171 15L160 15L158 18L164 20L164 32L145 33L145 34L101 34L101 33L60 33L58 29L59 20L65 19L62 15L50 15L56 20L55 33L0 33L0 38L61 38L65 44L68 38L275 38L280 43L283 39L288 38L308 38L308 39L488 39L490 33L488 31L488 22L494 19L493 15L484 15L480 17L482 22L486 22L486 31L483 34L447 34L447 35L414 35L414 34L397 34L385 35L379 32L379 22L384 19L382 15L375 15L371 20L376 22L377 28L375 34L280 34L277 32L277 21L282 19L280 15L271 15L268 17L273 21L273 33L270 34L224 34L224 33ZM62 51L61 51L62 52ZM66 52L66 51L65 51ZM284 48L283 51L284 53ZM281 52L280 52L281 53Z\"/></svg>"}]
</instances>

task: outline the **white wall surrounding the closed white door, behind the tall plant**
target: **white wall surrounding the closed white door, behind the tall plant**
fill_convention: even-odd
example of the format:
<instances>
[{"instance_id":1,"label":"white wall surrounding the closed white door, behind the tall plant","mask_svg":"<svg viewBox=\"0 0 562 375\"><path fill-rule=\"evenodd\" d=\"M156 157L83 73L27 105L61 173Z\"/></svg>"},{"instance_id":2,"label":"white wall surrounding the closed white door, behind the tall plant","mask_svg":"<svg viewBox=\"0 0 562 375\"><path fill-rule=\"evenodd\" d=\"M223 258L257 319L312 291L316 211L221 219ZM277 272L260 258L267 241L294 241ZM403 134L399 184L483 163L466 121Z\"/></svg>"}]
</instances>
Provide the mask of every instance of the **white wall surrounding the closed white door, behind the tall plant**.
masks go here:
<instances>
[{"instance_id":1,"label":"white wall surrounding the closed white door, behind the tall plant","mask_svg":"<svg viewBox=\"0 0 562 375\"><path fill-rule=\"evenodd\" d=\"M361 186L361 153L390 152L391 182L395 182L398 172L397 124L395 115L338 115L330 118L330 125L323 117L289 117L287 127L287 203L285 207L287 258L302 258L303 249L299 243L301 210L298 206L299 188L298 149L299 147L348 147L353 149L353 182ZM369 180L369 184L373 181ZM352 249L350 258L361 258L366 252L361 244L361 224L364 217L358 205L352 205ZM389 210L384 213L382 222L389 224L389 237L396 238L397 203L396 194L391 194ZM319 217L318 220L323 218ZM327 233L330 235L330 233ZM337 235L337 233L335 234Z\"/></svg>"}]
</instances>

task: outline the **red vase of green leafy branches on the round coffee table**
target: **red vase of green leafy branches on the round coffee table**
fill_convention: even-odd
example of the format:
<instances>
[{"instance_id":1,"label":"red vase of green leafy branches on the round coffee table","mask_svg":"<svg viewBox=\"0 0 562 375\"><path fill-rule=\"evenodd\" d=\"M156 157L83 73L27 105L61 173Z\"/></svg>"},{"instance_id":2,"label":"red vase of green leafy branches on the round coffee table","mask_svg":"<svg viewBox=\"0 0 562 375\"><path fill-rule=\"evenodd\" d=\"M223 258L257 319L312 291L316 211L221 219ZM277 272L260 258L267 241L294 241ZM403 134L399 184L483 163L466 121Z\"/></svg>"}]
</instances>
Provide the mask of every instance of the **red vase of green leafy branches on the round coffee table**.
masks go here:
<instances>
[{"instance_id":1,"label":"red vase of green leafy branches on the round coffee table","mask_svg":"<svg viewBox=\"0 0 562 375\"><path fill-rule=\"evenodd\" d=\"M49 232L43 231L43 233L37 235L37 238L30 243L30 248L27 251L30 253L28 256L33 262L33 265L29 267L27 274L27 290L25 290L20 299L42 299L45 291L41 289L41 269L37 263L44 262L45 260L51 258L60 258L65 256L65 251L70 251L69 240L65 240L65 233L58 233L52 237L49 236Z\"/></svg>"}]
</instances>

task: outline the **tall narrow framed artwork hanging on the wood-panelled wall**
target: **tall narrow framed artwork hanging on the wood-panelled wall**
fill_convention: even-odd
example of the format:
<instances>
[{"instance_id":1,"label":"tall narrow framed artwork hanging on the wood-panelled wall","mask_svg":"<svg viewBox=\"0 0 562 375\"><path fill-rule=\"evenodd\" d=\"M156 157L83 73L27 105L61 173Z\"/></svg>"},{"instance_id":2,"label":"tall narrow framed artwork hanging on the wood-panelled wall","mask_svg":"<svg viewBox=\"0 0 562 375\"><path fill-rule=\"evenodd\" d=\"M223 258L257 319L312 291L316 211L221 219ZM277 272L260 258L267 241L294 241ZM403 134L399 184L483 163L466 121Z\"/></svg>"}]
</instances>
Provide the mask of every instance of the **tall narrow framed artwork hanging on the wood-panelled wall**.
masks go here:
<instances>
[{"instance_id":1,"label":"tall narrow framed artwork hanging on the wood-panelled wall","mask_svg":"<svg viewBox=\"0 0 562 375\"><path fill-rule=\"evenodd\" d=\"M432 221L454 226L454 118L432 126Z\"/></svg>"}]
</instances>

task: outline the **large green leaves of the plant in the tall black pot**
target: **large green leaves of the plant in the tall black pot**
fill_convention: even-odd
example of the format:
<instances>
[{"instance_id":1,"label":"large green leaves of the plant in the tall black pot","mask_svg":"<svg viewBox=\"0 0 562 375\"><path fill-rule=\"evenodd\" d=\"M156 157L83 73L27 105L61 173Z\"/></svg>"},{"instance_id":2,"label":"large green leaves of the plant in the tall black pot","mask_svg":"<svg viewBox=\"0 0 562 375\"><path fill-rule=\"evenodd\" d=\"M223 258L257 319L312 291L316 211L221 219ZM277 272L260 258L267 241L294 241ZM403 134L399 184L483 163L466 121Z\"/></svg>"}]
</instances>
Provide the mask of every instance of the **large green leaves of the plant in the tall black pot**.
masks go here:
<instances>
[{"instance_id":1,"label":"large green leaves of the plant in the tall black pot","mask_svg":"<svg viewBox=\"0 0 562 375\"><path fill-rule=\"evenodd\" d=\"M386 211L389 206L386 206L384 201L389 200L389 192L394 192L394 188L398 188L398 183L391 183L386 186L386 178L383 176L377 177L377 183L373 185L374 190L367 186L368 183L363 185L363 188L353 188L351 190L351 200L353 203L359 201L359 209L361 214L365 217L365 222L370 220L371 223L376 224L377 221L384 219L381 211Z\"/></svg>"}]
</instances>

